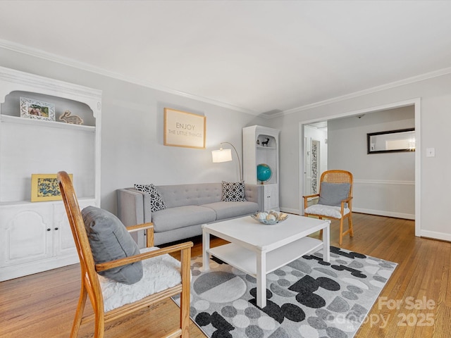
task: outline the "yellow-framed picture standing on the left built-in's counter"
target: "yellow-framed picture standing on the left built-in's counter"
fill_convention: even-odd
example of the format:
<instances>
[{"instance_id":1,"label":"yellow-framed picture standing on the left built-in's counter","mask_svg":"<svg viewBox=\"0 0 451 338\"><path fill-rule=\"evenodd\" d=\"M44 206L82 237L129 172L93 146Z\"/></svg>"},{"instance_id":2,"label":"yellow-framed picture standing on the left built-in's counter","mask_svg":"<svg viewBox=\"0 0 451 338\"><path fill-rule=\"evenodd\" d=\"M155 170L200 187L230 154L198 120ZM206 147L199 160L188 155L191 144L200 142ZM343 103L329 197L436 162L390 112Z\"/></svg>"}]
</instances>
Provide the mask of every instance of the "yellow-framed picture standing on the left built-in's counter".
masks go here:
<instances>
[{"instance_id":1,"label":"yellow-framed picture standing on the left built-in's counter","mask_svg":"<svg viewBox=\"0 0 451 338\"><path fill-rule=\"evenodd\" d=\"M69 174L72 180L72 174ZM31 201L58 201L61 200L58 179L56 174L31 175Z\"/></svg>"}]
</instances>

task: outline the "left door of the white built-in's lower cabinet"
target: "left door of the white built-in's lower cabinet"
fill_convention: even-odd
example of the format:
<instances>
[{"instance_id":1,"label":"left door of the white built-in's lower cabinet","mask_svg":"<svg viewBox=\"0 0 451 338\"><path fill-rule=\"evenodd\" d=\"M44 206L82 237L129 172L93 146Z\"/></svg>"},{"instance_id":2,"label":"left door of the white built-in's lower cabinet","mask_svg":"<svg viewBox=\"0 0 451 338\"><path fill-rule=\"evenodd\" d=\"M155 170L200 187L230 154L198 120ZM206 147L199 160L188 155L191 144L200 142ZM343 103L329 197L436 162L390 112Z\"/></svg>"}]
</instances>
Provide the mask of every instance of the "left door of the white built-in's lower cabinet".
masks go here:
<instances>
[{"instance_id":1,"label":"left door of the white built-in's lower cabinet","mask_svg":"<svg viewBox=\"0 0 451 338\"><path fill-rule=\"evenodd\" d=\"M0 207L0 266L7 267L49 258L52 250L51 205Z\"/></svg>"}]
</instances>

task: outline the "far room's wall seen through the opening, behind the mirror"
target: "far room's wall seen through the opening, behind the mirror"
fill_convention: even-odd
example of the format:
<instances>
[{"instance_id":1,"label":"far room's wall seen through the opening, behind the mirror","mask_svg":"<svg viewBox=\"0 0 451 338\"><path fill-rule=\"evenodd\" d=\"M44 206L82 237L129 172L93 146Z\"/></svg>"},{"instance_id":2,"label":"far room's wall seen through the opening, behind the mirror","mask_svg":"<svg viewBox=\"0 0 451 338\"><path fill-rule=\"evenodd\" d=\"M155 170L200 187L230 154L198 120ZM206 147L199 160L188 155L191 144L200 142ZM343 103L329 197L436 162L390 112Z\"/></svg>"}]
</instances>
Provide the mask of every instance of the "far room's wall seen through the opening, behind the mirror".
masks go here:
<instances>
[{"instance_id":1,"label":"far room's wall seen through the opening, behind the mirror","mask_svg":"<svg viewBox=\"0 0 451 338\"><path fill-rule=\"evenodd\" d=\"M414 219L415 153L367 154L366 144L367 133L412 127L414 106L328 121L329 169L354 175L354 211Z\"/></svg>"}]
</instances>

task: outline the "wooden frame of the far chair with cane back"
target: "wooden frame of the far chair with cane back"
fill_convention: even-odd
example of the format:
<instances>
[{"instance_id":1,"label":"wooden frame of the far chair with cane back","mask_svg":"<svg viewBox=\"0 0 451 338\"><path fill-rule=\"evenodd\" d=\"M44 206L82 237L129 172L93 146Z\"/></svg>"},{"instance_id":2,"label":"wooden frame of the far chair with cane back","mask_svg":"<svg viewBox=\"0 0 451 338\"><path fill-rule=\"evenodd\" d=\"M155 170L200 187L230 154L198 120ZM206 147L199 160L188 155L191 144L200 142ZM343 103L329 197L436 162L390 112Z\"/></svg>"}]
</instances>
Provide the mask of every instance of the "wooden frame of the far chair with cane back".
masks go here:
<instances>
[{"instance_id":1,"label":"wooden frame of the far chair with cane back","mask_svg":"<svg viewBox=\"0 0 451 338\"><path fill-rule=\"evenodd\" d=\"M330 216L325 215L315 215L313 213L304 213L304 216L316 216L320 220L323 218L331 218L335 220L340 220L340 237L338 243L342 244L342 237L345 234L350 234L350 237L354 237L354 230L352 229L352 182L354 178L352 177L352 173L346 170L327 170L324 173L321 174L320 182L328 182L328 183L350 183L350 192L347 196L347 199L343 199L341 201L341 208L340 208L340 215L341 218L333 218ZM318 194L311 194L307 196L302 196L304 198L304 210L307 209L308 206L308 199L319 197L321 195L321 183L319 187L319 193ZM350 212L345 214L345 204L347 204L347 207L350 209ZM347 218L348 223L348 229L343 232L343 220ZM321 232L322 234L322 232Z\"/></svg>"}]
</instances>

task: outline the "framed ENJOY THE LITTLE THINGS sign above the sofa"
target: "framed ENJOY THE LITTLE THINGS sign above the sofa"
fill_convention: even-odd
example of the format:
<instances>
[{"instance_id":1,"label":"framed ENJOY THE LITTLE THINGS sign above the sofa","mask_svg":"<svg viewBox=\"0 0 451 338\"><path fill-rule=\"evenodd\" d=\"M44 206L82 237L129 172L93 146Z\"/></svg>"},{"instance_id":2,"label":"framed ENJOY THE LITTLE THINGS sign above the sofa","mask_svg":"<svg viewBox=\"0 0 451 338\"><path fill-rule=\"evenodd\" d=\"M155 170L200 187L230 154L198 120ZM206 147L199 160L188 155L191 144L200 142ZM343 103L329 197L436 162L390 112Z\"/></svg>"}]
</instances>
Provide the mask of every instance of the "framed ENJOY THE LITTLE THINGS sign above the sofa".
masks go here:
<instances>
[{"instance_id":1,"label":"framed ENJOY THE LITTLE THINGS sign above the sofa","mask_svg":"<svg viewBox=\"0 0 451 338\"><path fill-rule=\"evenodd\" d=\"M206 117L164 108L164 145L205 149Z\"/></svg>"}]
</instances>

